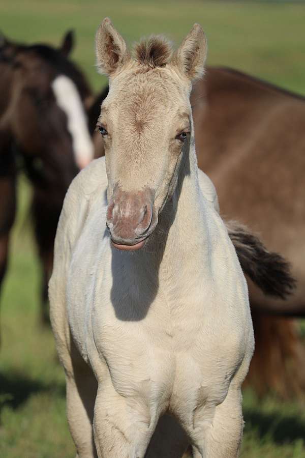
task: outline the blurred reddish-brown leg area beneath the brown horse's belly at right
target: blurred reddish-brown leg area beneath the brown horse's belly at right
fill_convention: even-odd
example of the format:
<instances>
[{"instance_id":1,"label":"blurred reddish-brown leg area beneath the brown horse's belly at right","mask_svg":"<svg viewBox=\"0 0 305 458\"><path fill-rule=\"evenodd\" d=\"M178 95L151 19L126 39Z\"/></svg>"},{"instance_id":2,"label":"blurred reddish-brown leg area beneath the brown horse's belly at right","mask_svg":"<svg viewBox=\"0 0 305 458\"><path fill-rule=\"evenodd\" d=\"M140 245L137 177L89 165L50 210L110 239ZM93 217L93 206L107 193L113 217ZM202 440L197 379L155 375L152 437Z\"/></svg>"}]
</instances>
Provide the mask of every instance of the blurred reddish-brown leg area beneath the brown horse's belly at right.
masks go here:
<instances>
[{"instance_id":1,"label":"blurred reddish-brown leg area beneath the brown horse's belly at right","mask_svg":"<svg viewBox=\"0 0 305 458\"><path fill-rule=\"evenodd\" d=\"M255 352L245 385L263 395L303 396L305 347L296 320L252 313Z\"/></svg>"}]
</instances>

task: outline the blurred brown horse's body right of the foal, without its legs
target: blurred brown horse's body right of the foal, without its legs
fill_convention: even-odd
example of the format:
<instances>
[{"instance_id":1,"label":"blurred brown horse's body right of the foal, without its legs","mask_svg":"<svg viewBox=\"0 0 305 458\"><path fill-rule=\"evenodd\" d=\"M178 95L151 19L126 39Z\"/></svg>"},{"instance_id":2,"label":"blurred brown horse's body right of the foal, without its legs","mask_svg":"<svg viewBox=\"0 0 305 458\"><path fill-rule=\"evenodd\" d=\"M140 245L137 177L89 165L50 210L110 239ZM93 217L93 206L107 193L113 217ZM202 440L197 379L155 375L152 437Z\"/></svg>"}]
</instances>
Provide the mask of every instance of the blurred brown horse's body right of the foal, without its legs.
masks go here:
<instances>
[{"instance_id":1,"label":"blurred brown horse's body right of the foal, without its legs","mask_svg":"<svg viewBox=\"0 0 305 458\"><path fill-rule=\"evenodd\" d=\"M292 262L289 304L262 297L256 311L305 313L305 98L243 73L208 68L192 92L198 166L216 186L222 214L259 232ZM230 193L228 193L228 188Z\"/></svg>"}]
</instances>

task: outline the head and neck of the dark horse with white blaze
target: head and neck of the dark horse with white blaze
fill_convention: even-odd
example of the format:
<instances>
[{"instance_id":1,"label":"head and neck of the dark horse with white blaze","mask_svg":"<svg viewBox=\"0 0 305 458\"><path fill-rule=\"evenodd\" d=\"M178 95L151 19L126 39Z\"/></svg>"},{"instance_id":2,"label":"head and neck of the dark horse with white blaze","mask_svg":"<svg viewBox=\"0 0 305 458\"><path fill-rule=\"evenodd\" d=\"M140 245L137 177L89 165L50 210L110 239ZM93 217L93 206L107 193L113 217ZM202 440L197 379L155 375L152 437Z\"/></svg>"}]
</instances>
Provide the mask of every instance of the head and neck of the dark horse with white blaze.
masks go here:
<instances>
[{"instance_id":1,"label":"head and neck of the dark horse with white blaze","mask_svg":"<svg viewBox=\"0 0 305 458\"><path fill-rule=\"evenodd\" d=\"M0 48L0 98L7 99L0 135L9 132L29 168L66 188L93 157L84 109L90 91L67 59L72 45L70 32L58 49L4 39Z\"/></svg>"}]
</instances>

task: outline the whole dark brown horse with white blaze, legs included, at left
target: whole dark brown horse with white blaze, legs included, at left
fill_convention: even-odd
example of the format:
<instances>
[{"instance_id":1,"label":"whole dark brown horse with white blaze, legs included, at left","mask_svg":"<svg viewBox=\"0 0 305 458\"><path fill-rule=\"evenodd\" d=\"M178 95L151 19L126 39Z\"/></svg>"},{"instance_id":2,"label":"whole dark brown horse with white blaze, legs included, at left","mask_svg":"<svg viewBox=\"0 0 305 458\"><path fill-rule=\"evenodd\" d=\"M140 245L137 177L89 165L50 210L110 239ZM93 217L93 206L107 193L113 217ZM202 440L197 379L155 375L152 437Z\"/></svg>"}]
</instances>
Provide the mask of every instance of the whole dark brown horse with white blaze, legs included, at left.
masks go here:
<instances>
[{"instance_id":1,"label":"whole dark brown horse with white blaze, legs included, at left","mask_svg":"<svg viewBox=\"0 0 305 458\"><path fill-rule=\"evenodd\" d=\"M42 301L52 269L53 242L67 188L93 156L85 106L91 92L62 45L20 45L0 39L0 284L16 210L17 164L33 185L33 217L43 267ZM44 308L47 319L47 309Z\"/></svg>"}]
</instances>

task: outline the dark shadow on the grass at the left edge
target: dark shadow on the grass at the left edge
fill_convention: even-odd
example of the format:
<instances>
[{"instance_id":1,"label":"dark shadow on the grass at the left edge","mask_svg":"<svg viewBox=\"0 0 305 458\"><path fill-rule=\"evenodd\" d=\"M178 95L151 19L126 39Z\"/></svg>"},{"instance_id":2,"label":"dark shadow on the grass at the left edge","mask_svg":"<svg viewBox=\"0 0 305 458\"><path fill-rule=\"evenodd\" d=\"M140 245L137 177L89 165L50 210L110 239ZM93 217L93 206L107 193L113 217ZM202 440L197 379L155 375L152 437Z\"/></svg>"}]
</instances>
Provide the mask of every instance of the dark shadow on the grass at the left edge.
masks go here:
<instances>
[{"instance_id":1,"label":"dark shadow on the grass at the left edge","mask_svg":"<svg viewBox=\"0 0 305 458\"><path fill-rule=\"evenodd\" d=\"M66 395L64 384L46 384L16 372L9 376L0 374L0 412L4 406L18 409L29 396L39 392L52 392L62 397Z\"/></svg>"}]
</instances>

